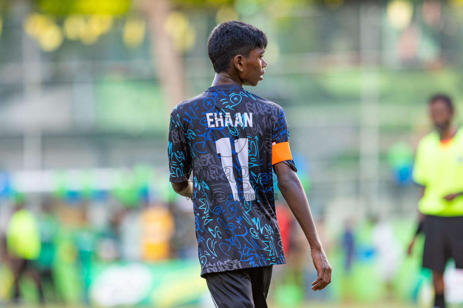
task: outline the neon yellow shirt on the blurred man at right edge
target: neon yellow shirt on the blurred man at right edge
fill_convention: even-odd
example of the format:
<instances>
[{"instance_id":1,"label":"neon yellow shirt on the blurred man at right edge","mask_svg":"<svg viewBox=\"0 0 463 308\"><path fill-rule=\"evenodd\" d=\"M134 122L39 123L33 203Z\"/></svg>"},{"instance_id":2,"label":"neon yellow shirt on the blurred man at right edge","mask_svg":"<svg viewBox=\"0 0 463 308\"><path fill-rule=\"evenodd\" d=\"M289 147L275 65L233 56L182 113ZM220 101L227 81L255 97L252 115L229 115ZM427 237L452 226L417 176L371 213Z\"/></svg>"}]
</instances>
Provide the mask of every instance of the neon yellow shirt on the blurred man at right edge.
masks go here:
<instances>
[{"instance_id":1,"label":"neon yellow shirt on the blurred man at right edge","mask_svg":"<svg viewBox=\"0 0 463 308\"><path fill-rule=\"evenodd\" d=\"M425 186L425 194L418 202L418 209L426 215L463 216L463 196L451 201L444 197L463 192L463 132L458 129L447 142L440 141L432 132L418 144L413 181Z\"/></svg>"}]
</instances>

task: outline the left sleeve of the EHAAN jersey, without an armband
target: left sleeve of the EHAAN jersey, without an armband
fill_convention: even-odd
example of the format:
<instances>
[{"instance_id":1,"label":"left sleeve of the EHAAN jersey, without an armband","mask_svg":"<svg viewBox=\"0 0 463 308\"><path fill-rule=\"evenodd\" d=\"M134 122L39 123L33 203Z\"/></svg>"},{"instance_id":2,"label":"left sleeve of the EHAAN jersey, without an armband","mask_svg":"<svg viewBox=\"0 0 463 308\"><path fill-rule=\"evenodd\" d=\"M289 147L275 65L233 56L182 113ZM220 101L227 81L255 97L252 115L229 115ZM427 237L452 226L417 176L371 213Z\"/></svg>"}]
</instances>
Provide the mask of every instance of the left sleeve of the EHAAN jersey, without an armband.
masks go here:
<instances>
[{"instance_id":1,"label":"left sleeve of the EHAAN jersey, without an armband","mask_svg":"<svg viewBox=\"0 0 463 308\"><path fill-rule=\"evenodd\" d=\"M168 142L169 170L171 182L188 181L191 173L191 156L186 134L177 109L170 114Z\"/></svg>"}]
</instances>

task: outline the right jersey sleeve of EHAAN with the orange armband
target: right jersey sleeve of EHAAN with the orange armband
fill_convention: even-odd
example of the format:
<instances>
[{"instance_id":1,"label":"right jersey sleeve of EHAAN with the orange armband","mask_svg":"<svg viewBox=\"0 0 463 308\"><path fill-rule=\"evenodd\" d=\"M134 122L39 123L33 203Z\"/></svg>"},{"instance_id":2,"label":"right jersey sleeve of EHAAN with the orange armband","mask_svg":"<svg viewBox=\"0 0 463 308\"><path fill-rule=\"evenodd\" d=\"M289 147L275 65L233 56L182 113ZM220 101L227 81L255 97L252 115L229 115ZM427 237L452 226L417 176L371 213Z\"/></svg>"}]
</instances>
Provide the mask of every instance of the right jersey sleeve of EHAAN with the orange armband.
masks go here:
<instances>
[{"instance_id":1,"label":"right jersey sleeve of EHAAN with the orange armband","mask_svg":"<svg viewBox=\"0 0 463 308\"><path fill-rule=\"evenodd\" d=\"M285 112L282 108L279 108L277 112L272 133L272 165L284 162L297 171L289 149L289 128Z\"/></svg>"}]
</instances>

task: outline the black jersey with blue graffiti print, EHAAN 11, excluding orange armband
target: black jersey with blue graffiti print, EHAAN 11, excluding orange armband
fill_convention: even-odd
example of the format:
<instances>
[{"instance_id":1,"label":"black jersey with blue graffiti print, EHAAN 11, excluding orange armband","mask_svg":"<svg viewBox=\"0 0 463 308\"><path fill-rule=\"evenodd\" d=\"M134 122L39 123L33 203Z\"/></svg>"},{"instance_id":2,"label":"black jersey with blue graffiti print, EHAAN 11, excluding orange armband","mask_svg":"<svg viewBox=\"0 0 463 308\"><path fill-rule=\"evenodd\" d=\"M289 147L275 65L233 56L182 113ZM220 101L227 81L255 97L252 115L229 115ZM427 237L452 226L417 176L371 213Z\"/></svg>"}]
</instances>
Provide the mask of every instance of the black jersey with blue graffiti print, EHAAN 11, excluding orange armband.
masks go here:
<instances>
[{"instance_id":1,"label":"black jersey with blue graffiti print, EHAAN 11, excluding orange armband","mask_svg":"<svg viewBox=\"0 0 463 308\"><path fill-rule=\"evenodd\" d=\"M172 110L170 181L193 181L201 275L285 263L271 163L272 143L288 138L283 109L237 85Z\"/></svg>"}]
</instances>

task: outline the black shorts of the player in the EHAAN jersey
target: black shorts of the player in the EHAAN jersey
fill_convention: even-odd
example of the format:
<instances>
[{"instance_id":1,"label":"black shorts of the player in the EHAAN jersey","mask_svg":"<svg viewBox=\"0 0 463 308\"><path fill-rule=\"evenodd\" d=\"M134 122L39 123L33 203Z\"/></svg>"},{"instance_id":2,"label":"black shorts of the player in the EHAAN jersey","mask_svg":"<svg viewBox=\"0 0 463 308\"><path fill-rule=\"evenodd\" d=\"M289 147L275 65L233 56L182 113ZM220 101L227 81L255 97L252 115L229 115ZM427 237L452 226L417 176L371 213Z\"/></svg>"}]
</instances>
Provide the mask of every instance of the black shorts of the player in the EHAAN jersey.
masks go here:
<instances>
[{"instance_id":1,"label":"black shorts of the player in the EHAAN jersey","mask_svg":"<svg viewBox=\"0 0 463 308\"><path fill-rule=\"evenodd\" d=\"M218 308L267 308L273 266L204 274Z\"/></svg>"}]
</instances>

